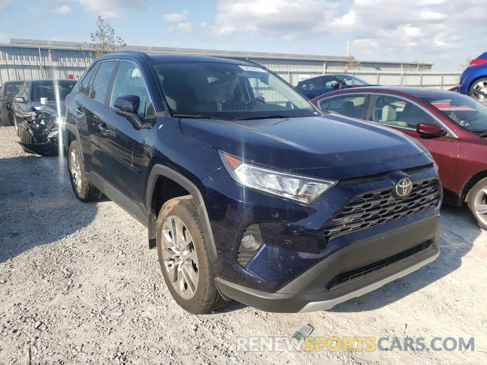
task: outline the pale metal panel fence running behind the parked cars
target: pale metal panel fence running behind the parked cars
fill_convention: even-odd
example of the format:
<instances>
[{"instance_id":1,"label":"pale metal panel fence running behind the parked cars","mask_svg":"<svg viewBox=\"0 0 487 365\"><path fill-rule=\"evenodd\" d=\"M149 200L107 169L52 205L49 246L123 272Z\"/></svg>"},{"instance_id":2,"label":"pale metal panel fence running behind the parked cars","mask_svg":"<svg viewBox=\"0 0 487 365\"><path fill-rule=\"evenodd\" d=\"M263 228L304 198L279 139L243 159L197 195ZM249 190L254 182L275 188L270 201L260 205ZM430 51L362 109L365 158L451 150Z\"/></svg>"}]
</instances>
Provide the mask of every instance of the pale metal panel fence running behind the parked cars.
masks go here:
<instances>
[{"instance_id":1,"label":"pale metal panel fence running behind the parked cars","mask_svg":"<svg viewBox=\"0 0 487 365\"><path fill-rule=\"evenodd\" d=\"M79 78L89 62L54 62L32 60L0 60L0 83L11 80L32 80L39 78ZM267 66L264 64L264 66ZM458 85L461 72L456 71L415 71L415 70L388 70L376 71L353 70L343 71L340 67L327 67L321 71L282 69L270 70L276 72L291 85L296 86L300 80L319 76L324 73L348 73L363 79L371 84L420 86L437 89L448 89Z\"/></svg>"}]
</instances>

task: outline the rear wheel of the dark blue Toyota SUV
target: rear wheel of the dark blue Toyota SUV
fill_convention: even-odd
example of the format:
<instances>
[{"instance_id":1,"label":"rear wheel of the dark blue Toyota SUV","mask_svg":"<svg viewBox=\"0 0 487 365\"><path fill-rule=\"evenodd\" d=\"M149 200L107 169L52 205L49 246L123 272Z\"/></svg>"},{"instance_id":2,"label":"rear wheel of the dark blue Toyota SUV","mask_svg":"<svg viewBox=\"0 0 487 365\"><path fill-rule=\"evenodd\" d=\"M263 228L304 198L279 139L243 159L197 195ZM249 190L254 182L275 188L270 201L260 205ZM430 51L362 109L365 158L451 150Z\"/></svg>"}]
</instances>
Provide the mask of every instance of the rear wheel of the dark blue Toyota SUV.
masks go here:
<instances>
[{"instance_id":1,"label":"rear wheel of the dark blue Toyota SUV","mask_svg":"<svg viewBox=\"0 0 487 365\"><path fill-rule=\"evenodd\" d=\"M78 141L74 140L69 146L68 172L71 187L77 200L82 202L96 201L103 193L85 177L85 167L81 161L81 148Z\"/></svg>"}]
</instances>

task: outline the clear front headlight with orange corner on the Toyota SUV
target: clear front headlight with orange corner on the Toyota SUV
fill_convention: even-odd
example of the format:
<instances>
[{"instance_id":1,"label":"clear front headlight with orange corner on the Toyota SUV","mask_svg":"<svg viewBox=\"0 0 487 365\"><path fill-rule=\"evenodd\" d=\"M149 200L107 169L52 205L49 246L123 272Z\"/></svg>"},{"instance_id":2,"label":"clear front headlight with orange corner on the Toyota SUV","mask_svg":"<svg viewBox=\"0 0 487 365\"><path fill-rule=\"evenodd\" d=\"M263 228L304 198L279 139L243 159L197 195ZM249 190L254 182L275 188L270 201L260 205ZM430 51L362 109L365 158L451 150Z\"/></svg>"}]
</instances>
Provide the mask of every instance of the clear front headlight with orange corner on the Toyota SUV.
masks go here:
<instances>
[{"instance_id":1,"label":"clear front headlight with orange corner on the Toyota SUV","mask_svg":"<svg viewBox=\"0 0 487 365\"><path fill-rule=\"evenodd\" d=\"M230 176L245 187L277 195L281 198L311 204L337 182L313 179L264 166L250 164L223 151L218 151Z\"/></svg>"}]
</instances>

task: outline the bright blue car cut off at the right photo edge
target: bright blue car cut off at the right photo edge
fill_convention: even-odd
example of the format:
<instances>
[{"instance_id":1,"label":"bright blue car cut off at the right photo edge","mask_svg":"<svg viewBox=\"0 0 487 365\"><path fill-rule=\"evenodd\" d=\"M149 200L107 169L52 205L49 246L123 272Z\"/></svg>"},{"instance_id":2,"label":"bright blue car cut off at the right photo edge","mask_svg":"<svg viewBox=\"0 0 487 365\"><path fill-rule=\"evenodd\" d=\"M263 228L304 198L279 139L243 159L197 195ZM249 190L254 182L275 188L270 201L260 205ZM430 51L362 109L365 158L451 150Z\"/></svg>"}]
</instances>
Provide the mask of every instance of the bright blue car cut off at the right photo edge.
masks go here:
<instances>
[{"instance_id":1,"label":"bright blue car cut off at the right photo edge","mask_svg":"<svg viewBox=\"0 0 487 365\"><path fill-rule=\"evenodd\" d=\"M487 52L470 61L467 69L460 77L460 92L473 96L474 91L487 92ZM479 95L479 100L487 101L483 95Z\"/></svg>"}]
</instances>

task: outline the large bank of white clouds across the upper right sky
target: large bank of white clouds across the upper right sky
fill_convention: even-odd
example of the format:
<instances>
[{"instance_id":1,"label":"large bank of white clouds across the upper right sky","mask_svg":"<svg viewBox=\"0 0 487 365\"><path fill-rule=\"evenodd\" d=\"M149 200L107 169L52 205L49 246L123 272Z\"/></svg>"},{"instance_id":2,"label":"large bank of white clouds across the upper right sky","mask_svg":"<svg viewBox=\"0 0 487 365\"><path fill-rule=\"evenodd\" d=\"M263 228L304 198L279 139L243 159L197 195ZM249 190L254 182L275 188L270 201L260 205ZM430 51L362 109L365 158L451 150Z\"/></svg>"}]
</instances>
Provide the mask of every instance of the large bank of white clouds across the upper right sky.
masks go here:
<instances>
[{"instance_id":1,"label":"large bank of white clouds across the upper right sky","mask_svg":"<svg viewBox=\"0 0 487 365\"><path fill-rule=\"evenodd\" d=\"M431 55L460 47L458 29L486 18L479 0L218 0L210 29L283 40L344 34L362 53Z\"/></svg>"}]
</instances>

